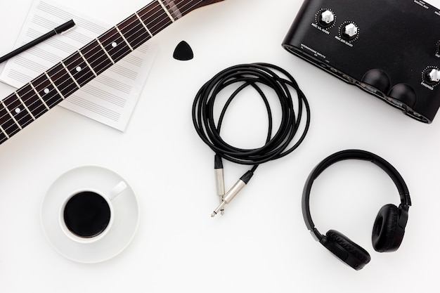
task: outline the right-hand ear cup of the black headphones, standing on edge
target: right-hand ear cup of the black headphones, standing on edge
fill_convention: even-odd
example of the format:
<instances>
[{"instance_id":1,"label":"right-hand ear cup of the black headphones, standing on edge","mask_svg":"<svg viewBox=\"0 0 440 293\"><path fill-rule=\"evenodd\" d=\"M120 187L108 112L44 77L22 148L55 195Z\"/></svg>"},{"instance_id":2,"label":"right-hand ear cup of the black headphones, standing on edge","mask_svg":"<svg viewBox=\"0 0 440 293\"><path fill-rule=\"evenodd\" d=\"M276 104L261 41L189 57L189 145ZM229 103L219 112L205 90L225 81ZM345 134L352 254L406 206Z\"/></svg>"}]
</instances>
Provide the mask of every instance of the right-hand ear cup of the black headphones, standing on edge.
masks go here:
<instances>
[{"instance_id":1,"label":"right-hand ear cup of the black headphones, standing on edge","mask_svg":"<svg viewBox=\"0 0 440 293\"><path fill-rule=\"evenodd\" d=\"M385 204L377 213L371 240L377 252L394 252L403 240L405 229L399 226L399 209Z\"/></svg>"}]
</instances>

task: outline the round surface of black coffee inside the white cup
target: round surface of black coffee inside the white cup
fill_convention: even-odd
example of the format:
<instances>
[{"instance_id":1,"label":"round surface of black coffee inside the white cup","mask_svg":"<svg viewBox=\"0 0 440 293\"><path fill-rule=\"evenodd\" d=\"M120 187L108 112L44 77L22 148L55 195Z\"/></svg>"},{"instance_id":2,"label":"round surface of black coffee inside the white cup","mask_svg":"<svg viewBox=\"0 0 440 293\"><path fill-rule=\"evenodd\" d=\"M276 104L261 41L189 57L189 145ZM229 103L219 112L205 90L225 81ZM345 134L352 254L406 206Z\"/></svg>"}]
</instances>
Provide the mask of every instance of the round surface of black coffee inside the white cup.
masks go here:
<instances>
[{"instance_id":1,"label":"round surface of black coffee inside the white cup","mask_svg":"<svg viewBox=\"0 0 440 293\"><path fill-rule=\"evenodd\" d=\"M75 235L94 237L107 228L110 222L110 207L101 195L83 191L72 196L65 205L64 222Z\"/></svg>"}]
</instances>

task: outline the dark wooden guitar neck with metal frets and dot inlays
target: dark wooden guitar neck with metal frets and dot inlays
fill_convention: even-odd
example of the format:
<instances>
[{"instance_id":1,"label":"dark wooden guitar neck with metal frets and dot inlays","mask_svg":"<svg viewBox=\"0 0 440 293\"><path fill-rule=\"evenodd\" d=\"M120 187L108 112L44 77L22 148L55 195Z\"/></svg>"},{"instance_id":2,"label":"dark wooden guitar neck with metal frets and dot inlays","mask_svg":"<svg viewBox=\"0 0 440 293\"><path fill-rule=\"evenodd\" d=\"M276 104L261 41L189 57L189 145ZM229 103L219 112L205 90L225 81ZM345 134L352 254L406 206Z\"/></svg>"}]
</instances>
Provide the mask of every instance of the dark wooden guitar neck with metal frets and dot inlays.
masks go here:
<instances>
[{"instance_id":1,"label":"dark wooden guitar neck with metal frets and dot inlays","mask_svg":"<svg viewBox=\"0 0 440 293\"><path fill-rule=\"evenodd\" d=\"M11 93L0 101L0 144L183 15L214 2L153 1Z\"/></svg>"}]
</instances>

